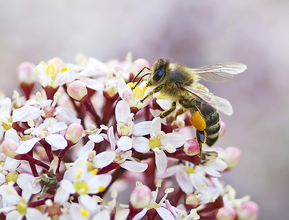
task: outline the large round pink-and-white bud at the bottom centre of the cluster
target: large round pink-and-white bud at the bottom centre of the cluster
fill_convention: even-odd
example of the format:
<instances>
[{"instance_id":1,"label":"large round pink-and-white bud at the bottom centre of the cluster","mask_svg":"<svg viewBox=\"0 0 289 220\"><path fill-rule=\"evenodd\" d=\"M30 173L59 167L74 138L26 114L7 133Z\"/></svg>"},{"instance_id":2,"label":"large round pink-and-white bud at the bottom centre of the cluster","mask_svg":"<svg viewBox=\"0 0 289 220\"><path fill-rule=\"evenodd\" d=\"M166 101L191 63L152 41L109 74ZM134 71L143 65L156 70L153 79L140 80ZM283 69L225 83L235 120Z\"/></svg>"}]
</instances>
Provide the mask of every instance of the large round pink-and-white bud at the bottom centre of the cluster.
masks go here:
<instances>
[{"instance_id":1,"label":"large round pink-and-white bud at the bottom centre of the cluster","mask_svg":"<svg viewBox=\"0 0 289 220\"><path fill-rule=\"evenodd\" d=\"M135 209L140 209L149 205L151 197L152 194L149 187L145 185L136 186L130 194L129 201Z\"/></svg>"}]
</instances>

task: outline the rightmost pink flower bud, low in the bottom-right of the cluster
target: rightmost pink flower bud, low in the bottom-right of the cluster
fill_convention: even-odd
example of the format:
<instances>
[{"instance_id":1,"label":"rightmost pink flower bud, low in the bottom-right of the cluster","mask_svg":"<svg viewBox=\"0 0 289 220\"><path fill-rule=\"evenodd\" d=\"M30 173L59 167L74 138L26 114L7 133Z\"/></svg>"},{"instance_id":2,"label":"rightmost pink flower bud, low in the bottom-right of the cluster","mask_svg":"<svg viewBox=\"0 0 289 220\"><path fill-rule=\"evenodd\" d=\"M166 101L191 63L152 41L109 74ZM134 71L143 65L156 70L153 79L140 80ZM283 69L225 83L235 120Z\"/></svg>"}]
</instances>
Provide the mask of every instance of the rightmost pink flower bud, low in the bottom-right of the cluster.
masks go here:
<instances>
[{"instance_id":1,"label":"rightmost pink flower bud, low in the bottom-right of the cluster","mask_svg":"<svg viewBox=\"0 0 289 220\"><path fill-rule=\"evenodd\" d=\"M253 201L246 202L236 209L238 220L254 220L259 213L259 206Z\"/></svg>"}]
</instances>

